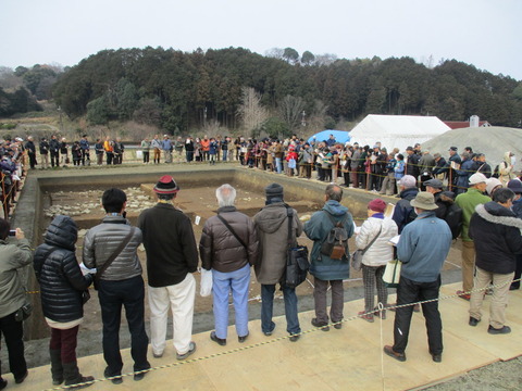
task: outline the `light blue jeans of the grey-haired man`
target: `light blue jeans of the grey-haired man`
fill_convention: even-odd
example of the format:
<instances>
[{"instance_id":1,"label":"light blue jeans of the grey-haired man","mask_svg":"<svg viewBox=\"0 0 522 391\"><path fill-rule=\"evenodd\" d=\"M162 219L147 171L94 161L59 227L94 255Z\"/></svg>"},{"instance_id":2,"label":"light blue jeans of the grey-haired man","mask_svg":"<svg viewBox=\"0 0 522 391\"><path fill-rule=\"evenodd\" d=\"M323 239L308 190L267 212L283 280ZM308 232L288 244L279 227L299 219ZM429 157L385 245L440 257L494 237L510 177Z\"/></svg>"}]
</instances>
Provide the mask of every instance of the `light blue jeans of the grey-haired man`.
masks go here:
<instances>
[{"instance_id":1,"label":"light blue jeans of the grey-haired man","mask_svg":"<svg viewBox=\"0 0 522 391\"><path fill-rule=\"evenodd\" d=\"M236 312L238 337L248 335L248 289L250 287L250 265L240 269L221 273L212 269L212 293L214 304L215 336L226 339L228 329L228 292L232 290Z\"/></svg>"}]
</instances>

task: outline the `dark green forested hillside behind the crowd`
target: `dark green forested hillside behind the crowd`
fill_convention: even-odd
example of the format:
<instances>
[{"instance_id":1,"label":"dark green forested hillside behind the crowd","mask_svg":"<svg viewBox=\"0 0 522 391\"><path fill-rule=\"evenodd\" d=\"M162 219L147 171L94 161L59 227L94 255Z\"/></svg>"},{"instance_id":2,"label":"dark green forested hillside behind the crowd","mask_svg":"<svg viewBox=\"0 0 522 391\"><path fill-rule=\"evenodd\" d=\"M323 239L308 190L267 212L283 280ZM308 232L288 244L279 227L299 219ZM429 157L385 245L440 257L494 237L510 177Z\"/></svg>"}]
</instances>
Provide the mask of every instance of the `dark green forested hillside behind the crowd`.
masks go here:
<instances>
[{"instance_id":1,"label":"dark green forested hillside behind the crowd","mask_svg":"<svg viewBox=\"0 0 522 391\"><path fill-rule=\"evenodd\" d=\"M105 50L58 74L52 99L70 117L86 116L92 125L133 119L171 134L210 121L293 131L302 123L323 127L370 113L445 121L476 114L512 127L522 118L519 81L462 62L426 67L410 58L320 59L289 48L274 56L240 48Z\"/></svg>"}]
</instances>

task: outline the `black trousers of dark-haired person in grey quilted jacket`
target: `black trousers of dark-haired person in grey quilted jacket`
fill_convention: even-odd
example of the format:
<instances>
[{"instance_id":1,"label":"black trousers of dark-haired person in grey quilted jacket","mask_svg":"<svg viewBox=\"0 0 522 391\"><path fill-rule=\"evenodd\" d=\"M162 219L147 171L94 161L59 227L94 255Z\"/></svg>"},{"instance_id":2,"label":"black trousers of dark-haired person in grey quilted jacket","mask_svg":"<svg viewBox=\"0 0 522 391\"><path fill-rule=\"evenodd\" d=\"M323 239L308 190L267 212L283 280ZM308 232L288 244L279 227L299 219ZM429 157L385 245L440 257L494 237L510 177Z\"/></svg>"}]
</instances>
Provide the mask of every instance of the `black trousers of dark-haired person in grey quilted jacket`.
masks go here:
<instances>
[{"instance_id":1,"label":"black trousers of dark-haired person in grey quilted jacket","mask_svg":"<svg viewBox=\"0 0 522 391\"><path fill-rule=\"evenodd\" d=\"M119 281L100 280L98 298L103 321L103 358L108 366L105 376L122 374L123 361L120 353L122 306L125 306L130 331L130 355L134 360L134 370L150 368L147 361L149 338L145 331L145 287L141 276Z\"/></svg>"}]
</instances>

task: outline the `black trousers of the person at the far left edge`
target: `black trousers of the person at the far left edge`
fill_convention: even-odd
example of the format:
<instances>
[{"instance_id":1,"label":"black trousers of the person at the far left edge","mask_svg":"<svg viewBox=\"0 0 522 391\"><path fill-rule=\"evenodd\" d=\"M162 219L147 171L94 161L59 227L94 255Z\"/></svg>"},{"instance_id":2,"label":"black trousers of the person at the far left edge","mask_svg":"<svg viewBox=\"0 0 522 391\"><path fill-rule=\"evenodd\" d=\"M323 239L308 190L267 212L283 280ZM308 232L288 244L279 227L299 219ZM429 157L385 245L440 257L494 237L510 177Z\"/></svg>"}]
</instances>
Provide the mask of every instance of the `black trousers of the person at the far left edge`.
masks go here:
<instances>
[{"instance_id":1,"label":"black trousers of the person at the far left edge","mask_svg":"<svg viewBox=\"0 0 522 391\"><path fill-rule=\"evenodd\" d=\"M8 346L9 370L11 370L11 374L13 374L15 379L20 379L27 370L27 364L25 363L24 357L23 323L16 321L14 319L14 313L12 313L0 318L0 331L2 332L5 345Z\"/></svg>"}]
</instances>

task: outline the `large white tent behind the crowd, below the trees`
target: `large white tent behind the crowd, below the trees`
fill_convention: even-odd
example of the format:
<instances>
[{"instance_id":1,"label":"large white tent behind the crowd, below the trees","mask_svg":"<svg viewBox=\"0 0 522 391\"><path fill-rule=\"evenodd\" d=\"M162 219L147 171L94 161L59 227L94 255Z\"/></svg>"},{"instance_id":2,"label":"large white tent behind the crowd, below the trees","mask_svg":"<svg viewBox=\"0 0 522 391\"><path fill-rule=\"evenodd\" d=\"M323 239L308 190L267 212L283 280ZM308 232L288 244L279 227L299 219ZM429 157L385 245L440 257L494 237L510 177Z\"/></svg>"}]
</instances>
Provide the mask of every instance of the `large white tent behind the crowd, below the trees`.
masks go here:
<instances>
[{"instance_id":1,"label":"large white tent behind the crowd, below the trees","mask_svg":"<svg viewBox=\"0 0 522 391\"><path fill-rule=\"evenodd\" d=\"M370 114L350 131L350 143L373 147L381 141L388 152L396 147L403 152L408 146L422 144L448 130L435 116Z\"/></svg>"}]
</instances>

